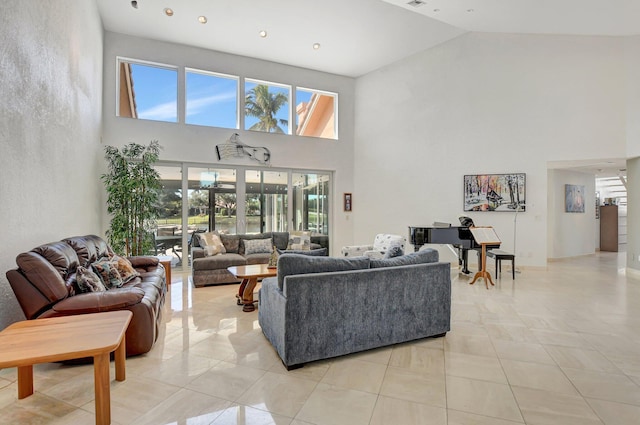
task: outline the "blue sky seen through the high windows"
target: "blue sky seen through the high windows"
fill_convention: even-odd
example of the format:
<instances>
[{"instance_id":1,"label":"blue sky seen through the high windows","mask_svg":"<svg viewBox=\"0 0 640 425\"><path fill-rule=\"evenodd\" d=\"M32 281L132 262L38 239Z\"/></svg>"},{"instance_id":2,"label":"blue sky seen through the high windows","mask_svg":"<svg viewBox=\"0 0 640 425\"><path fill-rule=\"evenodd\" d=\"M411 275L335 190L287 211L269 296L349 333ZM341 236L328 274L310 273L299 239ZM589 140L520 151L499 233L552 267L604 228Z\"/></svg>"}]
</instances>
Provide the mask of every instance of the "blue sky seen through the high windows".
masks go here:
<instances>
[{"instance_id":1,"label":"blue sky seen through the high windows","mask_svg":"<svg viewBox=\"0 0 640 425\"><path fill-rule=\"evenodd\" d=\"M136 94L138 118L177 122L177 70L132 63L131 72ZM258 82L247 80L245 90L251 90ZM222 128L237 128L238 80L220 75L187 72L186 73L186 123ZM289 89L282 86L270 86L270 91L285 93ZM290 97L290 96L289 96ZM307 102L311 92L298 90L296 101ZM289 120L289 104L277 113L278 119ZM295 111L293 112L295 120ZM245 117L245 129L257 122L256 118ZM291 125L292 123L289 122ZM285 132L287 126L281 126Z\"/></svg>"}]
</instances>

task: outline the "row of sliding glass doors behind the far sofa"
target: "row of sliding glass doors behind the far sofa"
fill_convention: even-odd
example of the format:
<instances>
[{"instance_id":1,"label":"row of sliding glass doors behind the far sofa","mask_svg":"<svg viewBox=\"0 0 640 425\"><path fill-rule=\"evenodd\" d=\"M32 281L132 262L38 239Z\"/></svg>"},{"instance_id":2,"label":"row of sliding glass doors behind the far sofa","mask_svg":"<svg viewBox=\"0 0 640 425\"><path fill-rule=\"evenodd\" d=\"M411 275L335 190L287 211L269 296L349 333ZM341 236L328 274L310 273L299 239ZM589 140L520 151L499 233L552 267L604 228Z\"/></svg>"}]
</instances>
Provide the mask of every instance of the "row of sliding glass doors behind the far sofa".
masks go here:
<instances>
[{"instance_id":1,"label":"row of sliding glass doors behind the far sofa","mask_svg":"<svg viewBox=\"0 0 640 425\"><path fill-rule=\"evenodd\" d=\"M331 173L184 163L161 163L156 169L162 181L154 231L158 255L173 256L176 266L190 264L195 232L329 235Z\"/></svg>"}]
</instances>

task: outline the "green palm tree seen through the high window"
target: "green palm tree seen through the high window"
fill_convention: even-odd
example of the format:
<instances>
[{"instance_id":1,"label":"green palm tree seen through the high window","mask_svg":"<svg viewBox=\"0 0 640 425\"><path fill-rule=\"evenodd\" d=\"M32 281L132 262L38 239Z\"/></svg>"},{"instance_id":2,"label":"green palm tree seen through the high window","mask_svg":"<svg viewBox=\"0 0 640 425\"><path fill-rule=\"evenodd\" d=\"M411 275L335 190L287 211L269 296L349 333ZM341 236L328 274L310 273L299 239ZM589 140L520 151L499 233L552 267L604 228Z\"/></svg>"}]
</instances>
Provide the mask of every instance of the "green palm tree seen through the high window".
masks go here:
<instances>
[{"instance_id":1,"label":"green palm tree seen through the high window","mask_svg":"<svg viewBox=\"0 0 640 425\"><path fill-rule=\"evenodd\" d=\"M284 133L280 125L289 125L288 120L275 117L278 110L289 101L284 93L271 93L269 86L259 84L249 90L245 97L244 113L258 119L249 130L265 131L267 133Z\"/></svg>"}]
</instances>

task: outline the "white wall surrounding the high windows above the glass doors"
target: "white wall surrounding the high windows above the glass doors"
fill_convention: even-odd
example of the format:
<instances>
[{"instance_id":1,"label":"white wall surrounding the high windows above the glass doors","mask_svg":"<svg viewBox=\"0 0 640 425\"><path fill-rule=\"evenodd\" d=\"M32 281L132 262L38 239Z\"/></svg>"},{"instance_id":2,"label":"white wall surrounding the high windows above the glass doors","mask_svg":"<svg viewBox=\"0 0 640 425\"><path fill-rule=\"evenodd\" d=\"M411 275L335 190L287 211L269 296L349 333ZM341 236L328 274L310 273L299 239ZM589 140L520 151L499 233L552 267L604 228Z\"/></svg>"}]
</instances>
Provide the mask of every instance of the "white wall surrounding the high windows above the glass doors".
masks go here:
<instances>
[{"instance_id":1,"label":"white wall surrounding the high windows above the glass doors","mask_svg":"<svg viewBox=\"0 0 640 425\"><path fill-rule=\"evenodd\" d=\"M115 116L116 56L147 60L184 67L210 70L246 78L297 85L339 94L339 140L229 130L134 120ZM184 82L179 73L178 99L183 98ZM215 145L234 132L251 146L265 146L271 151L273 167L334 171L335 211L342 211L342 193L353 191L353 115L355 80L352 78L296 68L258 59L235 56L201 48L105 33L104 45L104 143L123 146L157 139L163 150L161 160L201 164L254 164L246 159L218 162ZM357 201L356 201L357 202ZM340 249L352 239L351 222L344 214L333 217L330 247ZM335 251L334 251L335 252Z\"/></svg>"}]
</instances>

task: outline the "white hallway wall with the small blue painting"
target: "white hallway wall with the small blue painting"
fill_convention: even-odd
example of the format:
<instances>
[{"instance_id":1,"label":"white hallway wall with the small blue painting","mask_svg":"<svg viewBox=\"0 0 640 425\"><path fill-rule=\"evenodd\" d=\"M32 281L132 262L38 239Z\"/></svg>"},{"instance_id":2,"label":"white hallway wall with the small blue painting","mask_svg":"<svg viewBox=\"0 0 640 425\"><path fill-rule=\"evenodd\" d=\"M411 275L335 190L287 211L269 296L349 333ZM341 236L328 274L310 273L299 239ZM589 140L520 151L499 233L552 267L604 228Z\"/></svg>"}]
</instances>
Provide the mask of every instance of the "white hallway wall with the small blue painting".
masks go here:
<instances>
[{"instance_id":1,"label":"white hallway wall with the small blue painting","mask_svg":"<svg viewBox=\"0 0 640 425\"><path fill-rule=\"evenodd\" d=\"M568 170L548 173L548 258L567 258L595 253L595 176ZM584 186L584 213L565 212L565 185Z\"/></svg>"}]
</instances>

